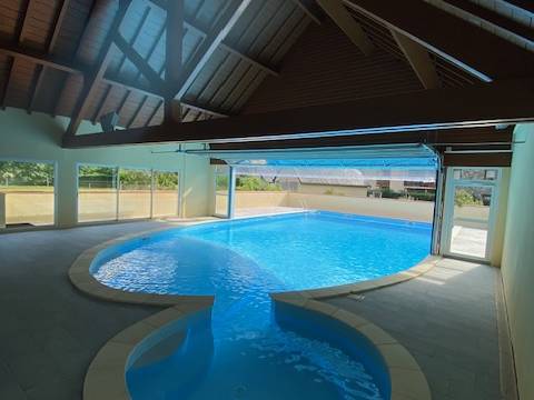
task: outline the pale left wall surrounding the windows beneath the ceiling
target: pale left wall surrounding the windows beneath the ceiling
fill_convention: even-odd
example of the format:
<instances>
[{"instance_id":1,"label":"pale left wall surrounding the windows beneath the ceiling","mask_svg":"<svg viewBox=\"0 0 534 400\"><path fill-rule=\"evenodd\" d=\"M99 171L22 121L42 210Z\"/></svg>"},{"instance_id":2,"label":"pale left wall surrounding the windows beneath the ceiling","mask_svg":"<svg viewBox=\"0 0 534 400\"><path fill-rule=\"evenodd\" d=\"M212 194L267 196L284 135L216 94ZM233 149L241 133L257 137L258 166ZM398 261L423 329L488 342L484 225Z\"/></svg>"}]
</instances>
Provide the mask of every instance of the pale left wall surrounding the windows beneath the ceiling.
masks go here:
<instances>
[{"instance_id":1,"label":"pale left wall surrounding the windows beneath the ceiling","mask_svg":"<svg viewBox=\"0 0 534 400\"><path fill-rule=\"evenodd\" d=\"M0 111L0 160L57 162L57 222L71 227L77 220L77 163L174 170L180 173L184 217L209 213L209 159L172 152L174 144L129 146L96 149L62 149L61 136L68 120L22 110ZM80 131L93 131L83 122ZM102 133L106 134L106 133ZM194 146L190 146L194 147ZM158 153L167 151L166 153Z\"/></svg>"}]
</instances>

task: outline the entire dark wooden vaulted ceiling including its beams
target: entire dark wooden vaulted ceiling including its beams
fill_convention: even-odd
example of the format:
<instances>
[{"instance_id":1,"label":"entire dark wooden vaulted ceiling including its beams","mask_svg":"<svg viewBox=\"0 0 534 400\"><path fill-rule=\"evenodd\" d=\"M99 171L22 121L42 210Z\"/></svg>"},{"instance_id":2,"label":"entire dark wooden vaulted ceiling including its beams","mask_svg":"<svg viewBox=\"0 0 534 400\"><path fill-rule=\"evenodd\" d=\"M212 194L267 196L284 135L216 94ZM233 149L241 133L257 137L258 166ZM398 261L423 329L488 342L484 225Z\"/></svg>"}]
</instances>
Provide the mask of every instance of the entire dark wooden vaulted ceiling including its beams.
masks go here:
<instances>
[{"instance_id":1,"label":"entire dark wooden vaulted ceiling including its beams","mask_svg":"<svg viewBox=\"0 0 534 400\"><path fill-rule=\"evenodd\" d=\"M521 1L506 3L533 21ZM233 132L195 134L250 120L239 114L308 107L295 113L305 122L313 107L346 102L340 111L326 108L333 112L322 116L328 121L365 106L360 99L379 96L384 100L377 104L388 106L412 99L403 97L411 92L531 78L532 28L511 16L474 0L6 0L0 4L0 106L71 117L68 146L77 142L81 120L96 122L110 111L130 128L115 139L108 132L110 143L222 138ZM474 89L467 96L496 98L517 87ZM521 93L523 101L527 94ZM434 113L444 106L441 98L413 97L433 99ZM444 98L463 97L458 91ZM524 107L502 109L501 121L533 117ZM485 110L472 111L488 119ZM235 122L197 128L225 117ZM421 118L432 126L443 122L438 117ZM298 132L285 118L279 130ZM181 122L194 124L177 130ZM91 140L106 142L83 138L79 143Z\"/></svg>"}]
</instances>

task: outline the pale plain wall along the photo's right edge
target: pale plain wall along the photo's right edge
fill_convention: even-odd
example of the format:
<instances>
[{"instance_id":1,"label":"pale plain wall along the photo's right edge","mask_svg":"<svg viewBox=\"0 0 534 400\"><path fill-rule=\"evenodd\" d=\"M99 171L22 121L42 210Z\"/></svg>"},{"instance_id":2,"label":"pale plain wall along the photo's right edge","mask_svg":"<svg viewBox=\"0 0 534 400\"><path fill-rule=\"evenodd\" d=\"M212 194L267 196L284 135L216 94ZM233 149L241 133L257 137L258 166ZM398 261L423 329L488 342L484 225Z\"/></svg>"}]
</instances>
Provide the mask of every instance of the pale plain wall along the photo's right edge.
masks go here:
<instances>
[{"instance_id":1,"label":"pale plain wall along the photo's right edge","mask_svg":"<svg viewBox=\"0 0 534 400\"><path fill-rule=\"evenodd\" d=\"M502 273L521 399L534 399L534 124L517 126Z\"/></svg>"}]
</instances>

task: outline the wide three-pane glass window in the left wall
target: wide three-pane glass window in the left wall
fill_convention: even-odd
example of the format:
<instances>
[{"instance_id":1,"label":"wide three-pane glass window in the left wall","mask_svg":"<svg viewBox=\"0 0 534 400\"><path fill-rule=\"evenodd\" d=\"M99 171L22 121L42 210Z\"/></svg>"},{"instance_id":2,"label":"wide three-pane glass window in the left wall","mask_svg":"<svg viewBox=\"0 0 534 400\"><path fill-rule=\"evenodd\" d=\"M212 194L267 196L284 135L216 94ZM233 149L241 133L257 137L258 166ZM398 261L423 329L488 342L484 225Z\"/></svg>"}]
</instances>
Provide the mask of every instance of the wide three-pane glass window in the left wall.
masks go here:
<instances>
[{"instance_id":1,"label":"wide three-pane glass window in the left wall","mask_svg":"<svg viewBox=\"0 0 534 400\"><path fill-rule=\"evenodd\" d=\"M178 172L78 168L78 222L178 216Z\"/></svg>"}]
</instances>

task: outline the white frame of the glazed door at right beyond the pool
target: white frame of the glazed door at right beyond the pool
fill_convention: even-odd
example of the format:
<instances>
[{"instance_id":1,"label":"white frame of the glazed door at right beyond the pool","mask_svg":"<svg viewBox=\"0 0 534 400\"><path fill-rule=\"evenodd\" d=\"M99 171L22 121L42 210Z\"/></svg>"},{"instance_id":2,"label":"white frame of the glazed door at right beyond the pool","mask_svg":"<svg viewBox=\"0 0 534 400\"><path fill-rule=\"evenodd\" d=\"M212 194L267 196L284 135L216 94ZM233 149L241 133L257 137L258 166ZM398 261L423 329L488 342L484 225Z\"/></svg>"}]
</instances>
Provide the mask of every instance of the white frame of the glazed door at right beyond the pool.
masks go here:
<instances>
[{"instance_id":1,"label":"white frame of the glazed door at right beyond the pool","mask_svg":"<svg viewBox=\"0 0 534 400\"><path fill-rule=\"evenodd\" d=\"M491 169L497 171L495 180L477 180L477 179L454 179L454 170L457 169ZM445 178L445 199L443 210L442 224L442 246L441 253L446 257L478 261L490 263L495 238L495 227L498 212L498 199L502 181L502 169L496 167L447 167ZM451 251L452 232L454 227L454 196L457 187L485 187L491 188L492 198L490 203L490 216L487 220L487 238L484 257L459 254Z\"/></svg>"}]
</instances>

